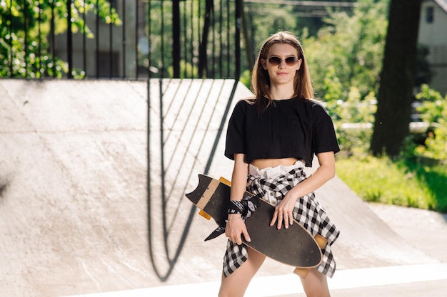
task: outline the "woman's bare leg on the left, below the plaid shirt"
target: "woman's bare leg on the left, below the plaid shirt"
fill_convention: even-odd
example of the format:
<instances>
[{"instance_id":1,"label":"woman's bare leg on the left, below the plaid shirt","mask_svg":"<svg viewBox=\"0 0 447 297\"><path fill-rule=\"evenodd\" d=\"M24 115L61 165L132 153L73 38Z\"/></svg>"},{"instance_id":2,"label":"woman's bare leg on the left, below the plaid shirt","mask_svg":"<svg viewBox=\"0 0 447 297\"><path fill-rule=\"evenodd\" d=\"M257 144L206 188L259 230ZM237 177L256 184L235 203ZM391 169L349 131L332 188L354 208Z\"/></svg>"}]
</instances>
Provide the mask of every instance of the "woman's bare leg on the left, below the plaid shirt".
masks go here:
<instances>
[{"instance_id":1,"label":"woman's bare leg on the left, below the plaid shirt","mask_svg":"<svg viewBox=\"0 0 447 297\"><path fill-rule=\"evenodd\" d=\"M248 260L236 271L225 277L222 275L219 297L242 297L256 271L261 267L266 259L261 253L248 248Z\"/></svg>"}]
</instances>

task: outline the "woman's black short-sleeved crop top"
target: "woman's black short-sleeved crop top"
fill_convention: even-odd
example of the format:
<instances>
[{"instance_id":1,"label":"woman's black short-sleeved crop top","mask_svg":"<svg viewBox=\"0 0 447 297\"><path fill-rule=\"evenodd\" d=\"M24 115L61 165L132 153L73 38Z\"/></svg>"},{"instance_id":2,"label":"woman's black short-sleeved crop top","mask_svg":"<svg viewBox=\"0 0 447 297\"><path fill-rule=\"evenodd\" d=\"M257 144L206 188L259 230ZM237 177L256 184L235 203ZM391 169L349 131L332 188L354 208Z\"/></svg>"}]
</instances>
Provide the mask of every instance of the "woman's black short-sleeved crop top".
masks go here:
<instances>
[{"instance_id":1,"label":"woman's black short-sleeved crop top","mask_svg":"<svg viewBox=\"0 0 447 297\"><path fill-rule=\"evenodd\" d=\"M261 115L257 105L241 100L228 123L225 156L231 160L237 153L247 163L296 157L311 167L314 154L339 150L331 117L315 100L273 100Z\"/></svg>"}]
</instances>

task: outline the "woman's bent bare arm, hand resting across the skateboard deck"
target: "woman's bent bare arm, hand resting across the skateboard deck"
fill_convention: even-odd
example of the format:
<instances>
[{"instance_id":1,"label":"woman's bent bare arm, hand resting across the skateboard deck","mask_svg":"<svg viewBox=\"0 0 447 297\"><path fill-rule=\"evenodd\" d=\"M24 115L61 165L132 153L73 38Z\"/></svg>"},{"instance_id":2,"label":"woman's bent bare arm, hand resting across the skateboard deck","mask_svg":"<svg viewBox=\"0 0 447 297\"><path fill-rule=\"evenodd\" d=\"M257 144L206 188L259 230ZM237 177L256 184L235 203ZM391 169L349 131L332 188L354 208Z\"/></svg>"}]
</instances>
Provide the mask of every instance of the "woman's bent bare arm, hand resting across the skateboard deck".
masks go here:
<instances>
[{"instance_id":1,"label":"woman's bent bare arm, hand resting across the skateboard deck","mask_svg":"<svg viewBox=\"0 0 447 297\"><path fill-rule=\"evenodd\" d=\"M321 152L316 156L320 167L286 194L273 213L271 226L276 222L278 229L281 229L283 223L284 227L288 228L288 225L293 222L293 207L295 207L296 200L315 191L335 176L335 156L333 152Z\"/></svg>"}]
</instances>

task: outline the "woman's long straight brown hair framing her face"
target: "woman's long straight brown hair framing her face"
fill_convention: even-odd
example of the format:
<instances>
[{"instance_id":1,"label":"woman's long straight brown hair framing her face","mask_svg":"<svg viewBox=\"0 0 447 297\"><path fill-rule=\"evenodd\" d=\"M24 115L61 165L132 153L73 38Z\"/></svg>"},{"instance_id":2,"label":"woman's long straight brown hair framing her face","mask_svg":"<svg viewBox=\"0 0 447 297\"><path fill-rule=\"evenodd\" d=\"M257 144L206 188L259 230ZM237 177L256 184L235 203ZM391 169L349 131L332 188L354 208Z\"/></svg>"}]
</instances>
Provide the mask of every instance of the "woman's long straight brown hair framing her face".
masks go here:
<instances>
[{"instance_id":1,"label":"woman's long straight brown hair framing her face","mask_svg":"<svg viewBox=\"0 0 447 297\"><path fill-rule=\"evenodd\" d=\"M303 46L298 41L298 38L288 31L280 31L273 34L263 42L263 46L258 53L258 58L256 58L256 63L253 66L253 71L251 73L251 90L256 95L256 103L261 104L263 98L268 99L268 103L264 106L266 108L271 104L272 99L269 95L270 89L270 77L268 71L266 71L261 63L261 59L266 59L268 51L271 46L276 43L286 43L298 51L298 59L302 59L301 67L296 71L295 79L293 82L294 96L313 99L313 87L311 81L311 75L309 74L306 58L304 56ZM262 104L264 105L264 104ZM259 105L258 105L259 106Z\"/></svg>"}]
</instances>

